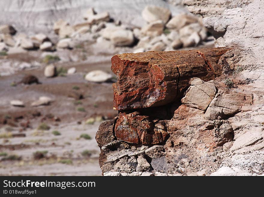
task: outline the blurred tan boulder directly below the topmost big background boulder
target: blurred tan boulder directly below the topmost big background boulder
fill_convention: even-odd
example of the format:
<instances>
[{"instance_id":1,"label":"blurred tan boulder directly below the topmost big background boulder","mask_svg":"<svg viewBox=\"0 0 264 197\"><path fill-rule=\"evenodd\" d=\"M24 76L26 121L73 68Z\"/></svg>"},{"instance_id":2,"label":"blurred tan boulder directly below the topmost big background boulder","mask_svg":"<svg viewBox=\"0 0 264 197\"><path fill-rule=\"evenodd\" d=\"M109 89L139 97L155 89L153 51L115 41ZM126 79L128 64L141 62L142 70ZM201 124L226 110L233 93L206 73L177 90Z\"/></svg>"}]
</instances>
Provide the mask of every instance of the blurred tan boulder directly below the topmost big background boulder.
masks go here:
<instances>
[{"instance_id":1,"label":"blurred tan boulder directly below the topmost big background boulder","mask_svg":"<svg viewBox=\"0 0 264 197\"><path fill-rule=\"evenodd\" d=\"M151 22L141 29L141 33L151 37L161 35L163 33L164 23L162 20Z\"/></svg>"}]
</instances>

